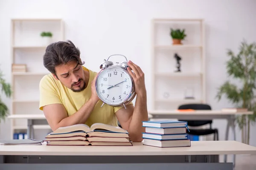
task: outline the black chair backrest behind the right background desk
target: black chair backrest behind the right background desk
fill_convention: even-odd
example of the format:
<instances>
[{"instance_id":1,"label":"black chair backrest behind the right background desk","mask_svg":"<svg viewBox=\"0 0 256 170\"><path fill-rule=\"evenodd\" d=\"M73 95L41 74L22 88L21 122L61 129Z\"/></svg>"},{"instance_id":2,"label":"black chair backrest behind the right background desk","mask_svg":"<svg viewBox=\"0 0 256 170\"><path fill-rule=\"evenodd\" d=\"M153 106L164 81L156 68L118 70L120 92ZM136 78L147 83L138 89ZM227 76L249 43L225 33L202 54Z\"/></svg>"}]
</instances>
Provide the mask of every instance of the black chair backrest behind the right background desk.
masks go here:
<instances>
[{"instance_id":1,"label":"black chair backrest behind the right background desk","mask_svg":"<svg viewBox=\"0 0 256 170\"><path fill-rule=\"evenodd\" d=\"M212 110L211 106L207 104L186 104L180 105L178 109L194 109L194 110ZM188 122L189 126L202 126L212 124L212 120L180 120Z\"/></svg>"}]
</instances>

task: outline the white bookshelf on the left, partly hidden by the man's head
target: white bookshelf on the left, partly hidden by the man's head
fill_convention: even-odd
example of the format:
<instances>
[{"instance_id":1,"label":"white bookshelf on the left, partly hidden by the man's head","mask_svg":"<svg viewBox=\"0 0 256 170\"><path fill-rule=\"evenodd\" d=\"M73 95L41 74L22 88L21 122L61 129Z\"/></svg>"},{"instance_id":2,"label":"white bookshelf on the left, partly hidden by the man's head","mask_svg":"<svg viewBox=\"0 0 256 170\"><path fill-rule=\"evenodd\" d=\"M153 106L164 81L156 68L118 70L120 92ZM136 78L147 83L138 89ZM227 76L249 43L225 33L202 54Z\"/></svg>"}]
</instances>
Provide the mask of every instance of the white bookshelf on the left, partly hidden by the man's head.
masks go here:
<instances>
[{"instance_id":1,"label":"white bookshelf on the left, partly hidden by the man's head","mask_svg":"<svg viewBox=\"0 0 256 170\"><path fill-rule=\"evenodd\" d=\"M62 19L22 18L11 20L12 64L26 64L26 72L12 71L12 108L10 114L43 114L39 110L39 82L49 74L44 68L43 55L49 43L44 43L42 31L52 32L51 42L65 40ZM12 67L12 65L11 65ZM11 69L12 70L12 69ZM11 139L14 133L26 133L26 119L11 120ZM49 129L38 125L34 129Z\"/></svg>"}]
</instances>

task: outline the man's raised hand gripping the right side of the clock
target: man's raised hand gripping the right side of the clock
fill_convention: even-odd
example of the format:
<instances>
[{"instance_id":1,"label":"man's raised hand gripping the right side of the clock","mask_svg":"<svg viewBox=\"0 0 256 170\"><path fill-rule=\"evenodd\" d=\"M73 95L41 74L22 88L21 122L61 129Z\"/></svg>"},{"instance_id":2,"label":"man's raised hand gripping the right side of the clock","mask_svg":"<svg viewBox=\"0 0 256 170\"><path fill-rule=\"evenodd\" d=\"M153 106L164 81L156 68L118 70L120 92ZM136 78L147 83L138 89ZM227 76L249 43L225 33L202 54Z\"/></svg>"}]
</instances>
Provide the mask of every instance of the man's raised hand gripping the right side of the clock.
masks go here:
<instances>
[{"instance_id":1,"label":"man's raised hand gripping the right side of the clock","mask_svg":"<svg viewBox=\"0 0 256 170\"><path fill-rule=\"evenodd\" d=\"M128 67L128 72L131 74L131 77L134 79L136 94L145 95L146 88L145 88L145 77L144 77L143 71L138 65L134 64L131 61L128 62L128 65L130 66Z\"/></svg>"}]
</instances>

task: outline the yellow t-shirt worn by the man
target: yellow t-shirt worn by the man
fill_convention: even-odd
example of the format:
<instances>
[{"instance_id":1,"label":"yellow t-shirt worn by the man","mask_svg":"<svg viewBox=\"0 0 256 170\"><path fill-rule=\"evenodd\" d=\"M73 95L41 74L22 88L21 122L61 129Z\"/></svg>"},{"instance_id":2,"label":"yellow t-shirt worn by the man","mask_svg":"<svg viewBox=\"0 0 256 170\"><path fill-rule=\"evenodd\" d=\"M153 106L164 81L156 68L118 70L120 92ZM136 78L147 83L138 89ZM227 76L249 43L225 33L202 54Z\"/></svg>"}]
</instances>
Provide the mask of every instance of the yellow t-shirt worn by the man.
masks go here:
<instances>
[{"instance_id":1,"label":"yellow t-shirt worn by the man","mask_svg":"<svg viewBox=\"0 0 256 170\"><path fill-rule=\"evenodd\" d=\"M62 85L59 80L56 80L52 74L45 75L40 81L40 104L39 109L43 110L43 106L59 103L64 105L67 111L67 116L71 116L78 111L85 102L90 99L91 96L91 82L96 76L96 72L93 72L85 67L84 70L89 71L90 77L87 88L81 92L73 92L66 86ZM122 107L113 107L110 105L102 105L102 101L99 100L95 105L90 117L85 122L89 127L93 123L104 123L108 125L118 126L116 111ZM132 102L130 103L132 104ZM53 113L54 114L54 113Z\"/></svg>"}]
</instances>

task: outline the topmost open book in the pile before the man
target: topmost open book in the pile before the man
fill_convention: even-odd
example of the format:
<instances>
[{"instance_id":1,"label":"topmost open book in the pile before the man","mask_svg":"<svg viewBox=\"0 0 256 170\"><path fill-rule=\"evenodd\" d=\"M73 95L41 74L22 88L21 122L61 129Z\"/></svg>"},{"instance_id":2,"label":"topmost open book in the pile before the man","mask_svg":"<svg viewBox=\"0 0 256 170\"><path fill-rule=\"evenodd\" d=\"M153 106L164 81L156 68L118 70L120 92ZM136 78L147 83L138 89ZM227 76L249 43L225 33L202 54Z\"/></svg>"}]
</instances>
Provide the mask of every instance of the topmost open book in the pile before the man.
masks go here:
<instances>
[{"instance_id":1,"label":"topmost open book in the pile before the man","mask_svg":"<svg viewBox=\"0 0 256 170\"><path fill-rule=\"evenodd\" d=\"M108 133L128 133L127 130L122 129L119 126L111 126L103 123L94 123L91 127L85 124L77 124L66 127L59 127L57 130L51 134L63 134L72 132L108 132Z\"/></svg>"}]
</instances>

